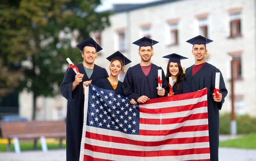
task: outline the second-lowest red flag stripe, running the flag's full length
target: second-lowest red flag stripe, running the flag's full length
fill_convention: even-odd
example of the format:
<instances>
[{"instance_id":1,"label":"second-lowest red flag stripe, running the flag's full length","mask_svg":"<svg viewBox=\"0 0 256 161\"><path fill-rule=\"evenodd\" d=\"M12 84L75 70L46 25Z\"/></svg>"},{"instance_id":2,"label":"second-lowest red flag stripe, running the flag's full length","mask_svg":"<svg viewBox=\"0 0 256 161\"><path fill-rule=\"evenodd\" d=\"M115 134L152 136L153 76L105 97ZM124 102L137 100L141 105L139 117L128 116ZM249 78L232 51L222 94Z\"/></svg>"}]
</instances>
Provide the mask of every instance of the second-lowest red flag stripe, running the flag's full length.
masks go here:
<instances>
[{"instance_id":1,"label":"second-lowest red flag stripe, running the flag's full length","mask_svg":"<svg viewBox=\"0 0 256 161\"><path fill-rule=\"evenodd\" d=\"M126 155L137 157L154 157L154 156L177 156L177 155L190 155L190 154L206 154L209 153L210 148L194 148L184 150L160 150L160 151L137 151L137 150L123 150L109 147L100 147L90 144L84 144L84 149L93 152L107 153L113 155Z\"/></svg>"}]
</instances>

